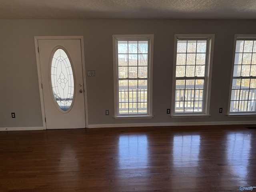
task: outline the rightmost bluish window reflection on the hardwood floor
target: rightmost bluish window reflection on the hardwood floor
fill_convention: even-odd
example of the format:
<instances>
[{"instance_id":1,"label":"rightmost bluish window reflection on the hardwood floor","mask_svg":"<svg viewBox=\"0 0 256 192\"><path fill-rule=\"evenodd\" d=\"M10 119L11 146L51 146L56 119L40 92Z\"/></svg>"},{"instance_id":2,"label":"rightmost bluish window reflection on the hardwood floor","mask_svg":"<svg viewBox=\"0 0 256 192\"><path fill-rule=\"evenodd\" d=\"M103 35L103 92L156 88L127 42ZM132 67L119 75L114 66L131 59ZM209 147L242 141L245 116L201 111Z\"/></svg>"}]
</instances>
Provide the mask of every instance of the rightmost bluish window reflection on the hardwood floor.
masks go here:
<instances>
[{"instance_id":1,"label":"rightmost bluish window reflection on the hardwood floor","mask_svg":"<svg viewBox=\"0 0 256 192\"><path fill-rule=\"evenodd\" d=\"M251 150L251 134L232 133L227 135L227 159L233 174L240 178L248 176Z\"/></svg>"}]
</instances>

